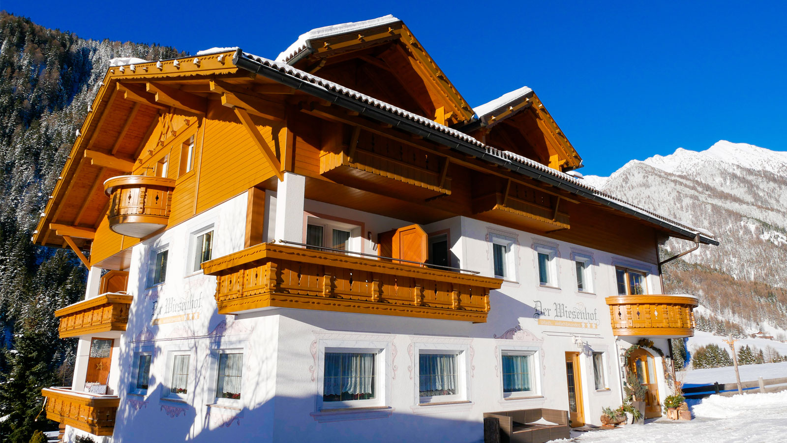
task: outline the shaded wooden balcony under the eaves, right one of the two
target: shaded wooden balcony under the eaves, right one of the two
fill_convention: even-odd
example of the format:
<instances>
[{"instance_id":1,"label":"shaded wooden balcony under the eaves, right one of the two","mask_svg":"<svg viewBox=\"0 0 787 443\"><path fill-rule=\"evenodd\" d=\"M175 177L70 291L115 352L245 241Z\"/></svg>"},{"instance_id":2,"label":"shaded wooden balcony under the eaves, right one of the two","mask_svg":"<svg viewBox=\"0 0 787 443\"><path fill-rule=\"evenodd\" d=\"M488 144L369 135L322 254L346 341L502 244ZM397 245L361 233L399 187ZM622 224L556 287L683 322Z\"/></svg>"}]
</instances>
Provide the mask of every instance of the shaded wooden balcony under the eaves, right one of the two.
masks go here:
<instances>
[{"instance_id":1,"label":"shaded wooden balcony under the eaves, right one of the two","mask_svg":"<svg viewBox=\"0 0 787 443\"><path fill-rule=\"evenodd\" d=\"M473 214L484 221L541 232L571 228L568 214L502 192L473 199Z\"/></svg>"}]
</instances>

